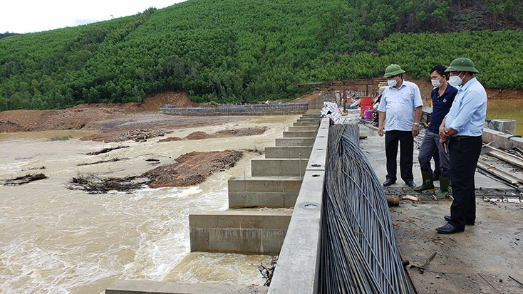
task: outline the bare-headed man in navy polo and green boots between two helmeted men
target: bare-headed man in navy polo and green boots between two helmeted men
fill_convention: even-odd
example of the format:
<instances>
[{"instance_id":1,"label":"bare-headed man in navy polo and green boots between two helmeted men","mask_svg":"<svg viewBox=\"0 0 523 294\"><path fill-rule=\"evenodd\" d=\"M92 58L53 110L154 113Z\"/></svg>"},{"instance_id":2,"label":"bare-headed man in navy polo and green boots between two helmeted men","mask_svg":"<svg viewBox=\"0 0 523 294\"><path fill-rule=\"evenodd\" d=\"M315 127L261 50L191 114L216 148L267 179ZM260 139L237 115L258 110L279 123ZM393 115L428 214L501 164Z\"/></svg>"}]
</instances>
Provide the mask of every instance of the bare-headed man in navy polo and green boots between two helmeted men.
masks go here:
<instances>
[{"instance_id":1,"label":"bare-headed man in navy polo and green boots between two helmeted men","mask_svg":"<svg viewBox=\"0 0 523 294\"><path fill-rule=\"evenodd\" d=\"M443 118L449 112L457 93L457 89L447 83L449 73L445 73L446 69L445 65L436 65L430 70L430 79L434 86L434 90L430 93L433 100L433 113L430 115L430 125L425 132L418 155L423 184L413 188L414 191L434 191L433 170L430 168L430 159L437 150L441 170L440 191L436 194L437 199L445 199L448 195L450 183L450 157L448 151L440 145L439 128ZM435 169L437 168L435 167Z\"/></svg>"}]
</instances>

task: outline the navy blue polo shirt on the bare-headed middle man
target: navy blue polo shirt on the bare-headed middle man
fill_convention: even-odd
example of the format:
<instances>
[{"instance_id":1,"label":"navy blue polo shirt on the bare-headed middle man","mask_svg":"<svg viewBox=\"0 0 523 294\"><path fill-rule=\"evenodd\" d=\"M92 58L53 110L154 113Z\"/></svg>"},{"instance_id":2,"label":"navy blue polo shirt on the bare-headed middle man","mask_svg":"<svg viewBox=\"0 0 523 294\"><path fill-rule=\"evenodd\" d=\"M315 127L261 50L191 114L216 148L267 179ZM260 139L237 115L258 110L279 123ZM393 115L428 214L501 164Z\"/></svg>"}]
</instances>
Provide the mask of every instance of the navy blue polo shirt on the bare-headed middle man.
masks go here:
<instances>
[{"instance_id":1,"label":"navy blue polo shirt on the bare-headed middle man","mask_svg":"<svg viewBox=\"0 0 523 294\"><path fill-rule=\"evenodd\" d=\"M443 95L440 96L439 90L440 88L434 88L432 93L430 93L430 97L433 100L433 113L430 115L430 125L427 128L429 132L435 132L436 134L440 132L441 122L449 112L457 94L457 89L449 83L447 83L447 88Z\"/></svg>"}]
</instances>

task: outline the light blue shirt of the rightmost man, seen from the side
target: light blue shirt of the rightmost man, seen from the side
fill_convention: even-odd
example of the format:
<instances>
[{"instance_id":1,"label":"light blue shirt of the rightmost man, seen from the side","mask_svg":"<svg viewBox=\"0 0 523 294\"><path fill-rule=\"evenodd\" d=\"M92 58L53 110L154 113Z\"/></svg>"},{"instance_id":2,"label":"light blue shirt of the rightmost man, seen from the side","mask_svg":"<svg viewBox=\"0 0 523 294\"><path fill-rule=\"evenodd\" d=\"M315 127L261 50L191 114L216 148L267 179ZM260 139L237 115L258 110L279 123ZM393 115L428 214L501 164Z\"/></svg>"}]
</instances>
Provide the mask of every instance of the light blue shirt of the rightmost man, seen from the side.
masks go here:
<instances>
[{"instance_id":1,"label":"light blue shirt of the rightmost man, seen from the side","mask_svg":"<svg viewBox=\"0 0 523 294\"><path fill-rule=\"evenodd\" d=\"M486 116L487 93L480 82L472 78L457 90L445 127L457 130L455 136L481 136Z\"/></svg>"}]
</instances>

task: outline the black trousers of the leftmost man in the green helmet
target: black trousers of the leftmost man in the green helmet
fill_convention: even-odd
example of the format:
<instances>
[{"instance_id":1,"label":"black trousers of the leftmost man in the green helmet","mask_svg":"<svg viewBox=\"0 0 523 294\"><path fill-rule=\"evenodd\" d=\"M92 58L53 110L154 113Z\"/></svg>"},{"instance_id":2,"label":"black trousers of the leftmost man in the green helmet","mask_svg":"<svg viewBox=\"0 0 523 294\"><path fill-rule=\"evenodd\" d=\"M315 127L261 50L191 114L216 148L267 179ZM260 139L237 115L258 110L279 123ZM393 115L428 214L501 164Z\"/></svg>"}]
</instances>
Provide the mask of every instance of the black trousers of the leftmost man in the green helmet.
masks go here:
<instances>
[{"instance_id":1,"label":"black trousers of the leftmost man in the green helmet","mask_svg":"<svg viewBox=\"0 0 523 294\"><path fill-rule=\"evenodd\" d=\"M401 179L408 182L414 179L413 152L414 137L411 131L385 132L385 154L387 156L387 179L396 180L396 157L400 143L400 173Z\"/></svg>"}]
</instances>

